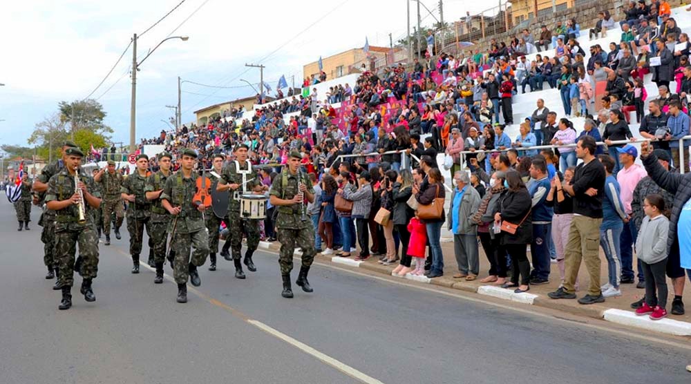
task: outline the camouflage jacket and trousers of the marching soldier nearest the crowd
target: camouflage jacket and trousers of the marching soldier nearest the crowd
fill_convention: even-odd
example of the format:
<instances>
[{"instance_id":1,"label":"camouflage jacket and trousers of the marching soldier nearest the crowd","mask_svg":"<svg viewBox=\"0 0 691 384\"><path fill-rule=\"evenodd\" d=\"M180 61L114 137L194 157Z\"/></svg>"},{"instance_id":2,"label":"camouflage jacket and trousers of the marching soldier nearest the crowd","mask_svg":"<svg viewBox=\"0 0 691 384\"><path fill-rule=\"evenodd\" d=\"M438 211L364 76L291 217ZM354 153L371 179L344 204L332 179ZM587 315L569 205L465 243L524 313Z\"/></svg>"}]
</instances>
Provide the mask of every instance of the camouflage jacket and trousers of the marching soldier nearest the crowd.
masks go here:
<instances>
[{"instance_id":1,"label":"camouflage jacket and trousers of the marching soldier nearest the crowd","mask_svg":"<svg viewBox=\"0 0 691 384\"><path fill-rule=\"evenodd\" d=\"M299 171L297 175L293 175L285 167L280 175L274 177L269 194L285 200L294 198L299 193L298 176L301 177L301 182L307 186L307 191L314 193L312 182L307 179L305 173ZM314 227L312 227L312 220L305 213L305 208L306 204L276 207L278 210L276 231L278 232L278 242L281 242L278 264L281 265L282 275L290 275L290 271L293 269L295 247L302 249L303 267L309 269L312 261L314 261L314 254L316 253L314 250Z\"/></svg>"}]
</instances>

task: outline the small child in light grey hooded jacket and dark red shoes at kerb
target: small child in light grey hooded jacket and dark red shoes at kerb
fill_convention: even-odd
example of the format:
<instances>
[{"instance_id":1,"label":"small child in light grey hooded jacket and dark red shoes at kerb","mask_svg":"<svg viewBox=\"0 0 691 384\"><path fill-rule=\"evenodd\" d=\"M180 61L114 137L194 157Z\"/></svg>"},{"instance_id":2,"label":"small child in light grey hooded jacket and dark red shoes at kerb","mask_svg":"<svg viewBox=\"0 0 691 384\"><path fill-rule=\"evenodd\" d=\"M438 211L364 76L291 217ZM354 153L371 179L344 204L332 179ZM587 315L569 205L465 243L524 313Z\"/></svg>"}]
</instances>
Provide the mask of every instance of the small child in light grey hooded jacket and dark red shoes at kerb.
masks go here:
<instances>
[{"instance_id":1,"label":"small child in light grey hooded jacket and dark red shoes at kerb","mask_svg":"<svg viewBox=\"0 0 691 384\"><path fill-rule=\"evenodd\" d=\"M645 303L636 309L636 315L650 315L650 320L667 316L667 234L670 220L663 215L664 198L653 193L643 200L645 217L636 239L636 255L641 260L645 276ZM657 291L657 292L656 292ZM656 295L657 293L657 295Z\"/></svg>"}]
</instances>

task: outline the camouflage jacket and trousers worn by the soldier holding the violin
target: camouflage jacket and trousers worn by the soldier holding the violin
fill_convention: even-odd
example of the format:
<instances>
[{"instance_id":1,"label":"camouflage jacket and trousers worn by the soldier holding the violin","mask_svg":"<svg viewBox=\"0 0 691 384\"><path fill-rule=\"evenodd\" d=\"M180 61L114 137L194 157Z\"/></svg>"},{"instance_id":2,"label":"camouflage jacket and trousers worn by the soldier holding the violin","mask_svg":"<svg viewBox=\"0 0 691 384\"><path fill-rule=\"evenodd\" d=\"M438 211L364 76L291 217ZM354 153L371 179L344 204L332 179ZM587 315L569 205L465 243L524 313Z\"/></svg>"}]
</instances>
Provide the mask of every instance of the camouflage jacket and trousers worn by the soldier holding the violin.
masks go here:
<instances>
[{"instance_id":1,"label":"camouflage jacket and trousers worn by the soldier holding the violin","mask_svg":"<svg viewBox=\"0 0 691 384\"><path fill-rule=\"evenodd\" d=\"M186 179L181 170L176 175L168 177L161 194L161 200L168 200L173 207L182 209L168 224L168 233L172 236L171 247L176 250L173 277L178 285L187 283L189 264L196 267L204 265L209 253L209 235L204 218L192 202L198 176L196 172L192 172L191 177ZM190 258L191 247L194 247L194 252Z\"/></svg>"}]
</instances>

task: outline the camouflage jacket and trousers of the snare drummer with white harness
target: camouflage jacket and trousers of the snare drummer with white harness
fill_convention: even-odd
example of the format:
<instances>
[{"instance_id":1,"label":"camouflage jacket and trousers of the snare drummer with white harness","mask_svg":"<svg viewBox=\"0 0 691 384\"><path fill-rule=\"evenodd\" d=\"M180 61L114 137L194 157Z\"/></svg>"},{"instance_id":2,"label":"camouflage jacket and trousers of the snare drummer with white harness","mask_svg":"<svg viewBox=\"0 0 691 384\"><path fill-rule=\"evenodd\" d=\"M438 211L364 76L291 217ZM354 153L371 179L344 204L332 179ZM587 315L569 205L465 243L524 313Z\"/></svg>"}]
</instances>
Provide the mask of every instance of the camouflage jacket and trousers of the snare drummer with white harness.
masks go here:
<instances>
[{"instance_id":1,"label":"camouflage jacket and trousers of the snare drummer with white harness","mask_svg":"<svg viewBox=\"0 0 691 384\"><path fill-rule=\"evenodd\" d=\"M230 191L230 199L228 201L228 229L230 232L230 244L234 260L240 259L240 253L243 248L243 230L247 234L247 254L252 256L252 253L254 253L259 246L260 220L249 220L240 217L240 200L238 196L243 193L252 193L251 191L254 186L261 183L259 182L256 171L252 169L252 164L250 164L249 161L245 161L245 166L240 166L239 170L236 167L236 162L231 162L223 169L223 174L218 181L220 184L242 184L243 174L238 171L246 171L248 167L249 173L245 175L245 180L252 181L247 182L245 186L240 186L235 191Z\"/></svg>"}]
</instances>

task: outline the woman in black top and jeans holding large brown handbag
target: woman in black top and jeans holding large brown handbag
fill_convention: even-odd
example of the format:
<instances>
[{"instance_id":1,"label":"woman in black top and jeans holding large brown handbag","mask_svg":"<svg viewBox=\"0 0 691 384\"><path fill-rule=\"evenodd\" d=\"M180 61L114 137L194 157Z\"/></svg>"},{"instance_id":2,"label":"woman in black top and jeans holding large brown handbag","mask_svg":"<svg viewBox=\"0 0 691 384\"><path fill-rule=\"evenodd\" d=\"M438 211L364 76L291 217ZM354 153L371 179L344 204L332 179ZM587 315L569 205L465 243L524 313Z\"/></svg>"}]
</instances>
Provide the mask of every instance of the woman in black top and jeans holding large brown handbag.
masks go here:
<instances>
[{"instance_id":1,"label":"woman in black top and jeans holding large brown handbag","mask_svg":"<svg viewBox=\"0 0 691 384\"><path fill-rule=\"evenodd\" d=\"M444 276L444 255L440 240L442 225L444 225L446 218L444 215L446 190L444 189L444 176L438 168L430 169L427 173L427 181L424 190L419 189L417 185L413 186L413 193L415 193L415 199L419 204L417 216L425 223L430 252L432 253L432 267L427 277L438 278Z\"/></svg>"}]
</instances>

